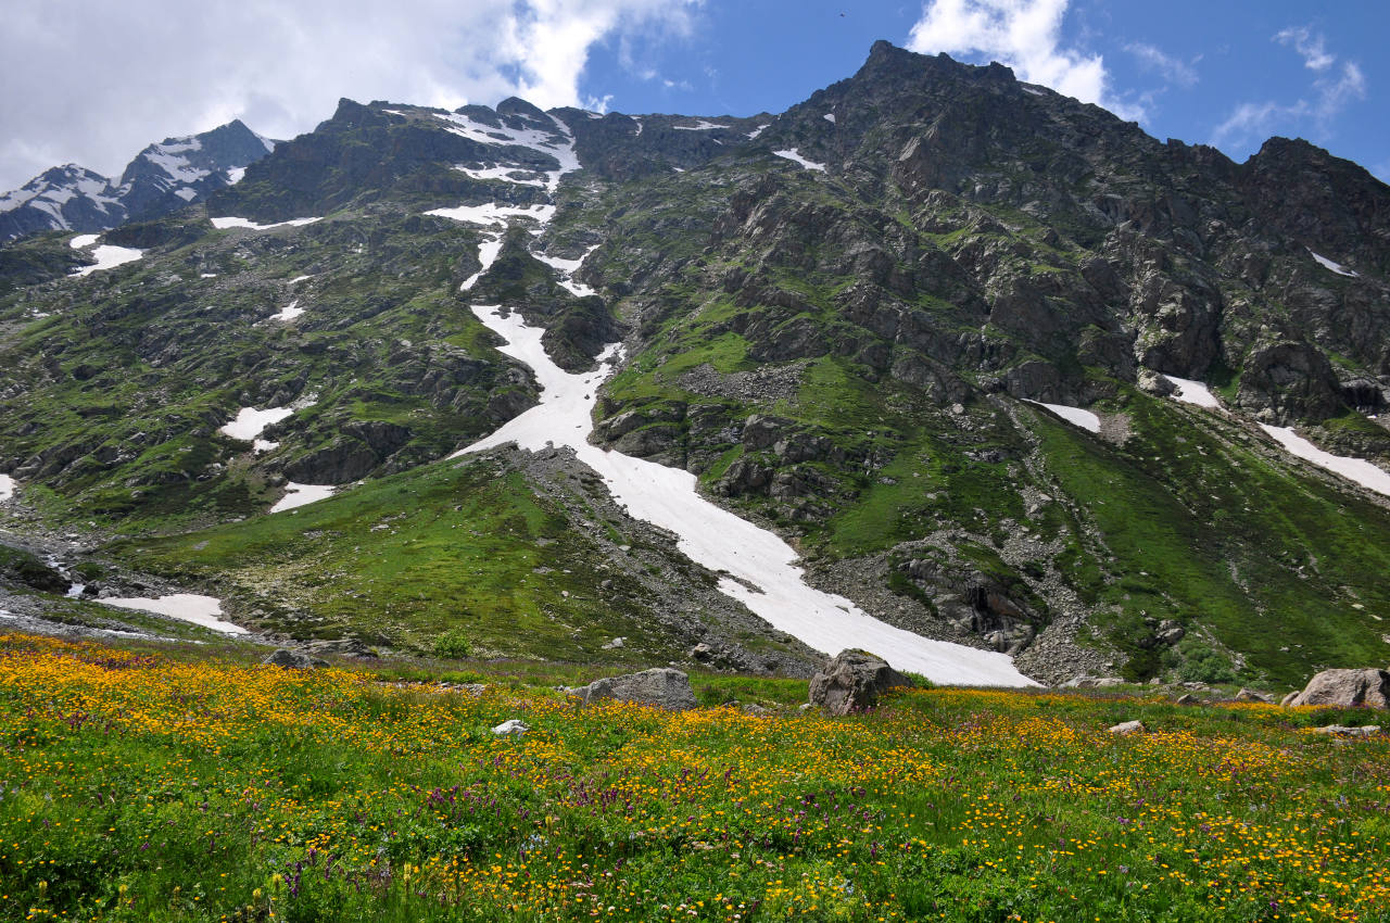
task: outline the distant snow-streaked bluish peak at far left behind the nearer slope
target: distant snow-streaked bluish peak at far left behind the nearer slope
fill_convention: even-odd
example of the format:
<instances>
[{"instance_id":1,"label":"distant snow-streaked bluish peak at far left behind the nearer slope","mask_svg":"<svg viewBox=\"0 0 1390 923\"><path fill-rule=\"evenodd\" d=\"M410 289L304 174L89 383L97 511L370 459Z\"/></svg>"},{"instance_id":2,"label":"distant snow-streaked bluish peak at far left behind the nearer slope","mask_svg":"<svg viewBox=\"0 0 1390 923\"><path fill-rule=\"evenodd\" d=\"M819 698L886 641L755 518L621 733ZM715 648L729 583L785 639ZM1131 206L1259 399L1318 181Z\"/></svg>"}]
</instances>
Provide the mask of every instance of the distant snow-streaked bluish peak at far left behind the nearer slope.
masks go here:
<instances>
[{"instance_id":1,"label":"distant snow-streaked bluish peak at far left behind the nearer slope","mask_svg":"<svg viewBox=\"0 0 1390 923\"><path fill-rule=\"evenodd\" d=\"M274 147L238 120L150 145L120 179L76 164L54 167L0 196L0 240L43 231L108 231L177 211L236 182L247 164Z\"/></svg>"}]
</instances>

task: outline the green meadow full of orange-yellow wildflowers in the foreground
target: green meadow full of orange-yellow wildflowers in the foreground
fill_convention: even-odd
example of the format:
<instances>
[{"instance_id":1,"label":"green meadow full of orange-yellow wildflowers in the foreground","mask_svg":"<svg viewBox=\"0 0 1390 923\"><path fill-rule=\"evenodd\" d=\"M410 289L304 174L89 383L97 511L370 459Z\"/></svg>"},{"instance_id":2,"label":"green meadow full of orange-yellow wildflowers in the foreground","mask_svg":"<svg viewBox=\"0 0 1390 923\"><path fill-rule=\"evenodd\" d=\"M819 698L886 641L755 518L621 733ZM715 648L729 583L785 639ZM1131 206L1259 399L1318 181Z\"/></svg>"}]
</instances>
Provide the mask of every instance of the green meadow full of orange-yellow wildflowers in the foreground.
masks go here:
<instances>
[{"instance_id":1,"label":"green meadow full of orange-yellow wildflowers in the foreground","mask_svg":"<svg viewBox=\"0 0 1390 923\"><path fill-rule=\"evenodd\" d=\"M766 688L581 709L0 637L0 919L1390 920L1390 738L1309 733L1365 714Z\"/></svg>"}]
</instances>

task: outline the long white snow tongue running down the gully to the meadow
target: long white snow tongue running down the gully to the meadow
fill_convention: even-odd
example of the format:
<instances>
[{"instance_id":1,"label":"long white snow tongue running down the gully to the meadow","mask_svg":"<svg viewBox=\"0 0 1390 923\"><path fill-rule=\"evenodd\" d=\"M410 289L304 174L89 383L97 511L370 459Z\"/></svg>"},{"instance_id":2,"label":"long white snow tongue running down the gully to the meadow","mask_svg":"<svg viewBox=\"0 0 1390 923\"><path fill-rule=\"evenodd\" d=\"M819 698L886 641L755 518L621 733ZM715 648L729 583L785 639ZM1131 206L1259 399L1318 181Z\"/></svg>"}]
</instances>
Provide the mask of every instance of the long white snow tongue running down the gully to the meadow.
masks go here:
<instances>
[{"instance_id":1,"label":"long white snow tongue running down the gully to the meadow","mask_svg":"<svg viewBox=\"0 0 1390 923\"><path fill-rule=\"evenodd\" d=\"M613 371L616 345L599 357L596 371L574 375L550 361L541 345L545 331L528 325L518 313L503 316L489 306L474 306L473 311L506 338L503 353L534 370L541 403L456 455L507 442L531 450L569 446L599 473L613 499L631 516L670 530L680 537L684 555L726 573L719 584L721 592L812 648L827 653L865 648L934 683L1037 685L1004 653L923 638L873 619L842 596L809 587L790 545L702 498L694 474L589 445L598 385Z\"/></svg>"}]
</instances>

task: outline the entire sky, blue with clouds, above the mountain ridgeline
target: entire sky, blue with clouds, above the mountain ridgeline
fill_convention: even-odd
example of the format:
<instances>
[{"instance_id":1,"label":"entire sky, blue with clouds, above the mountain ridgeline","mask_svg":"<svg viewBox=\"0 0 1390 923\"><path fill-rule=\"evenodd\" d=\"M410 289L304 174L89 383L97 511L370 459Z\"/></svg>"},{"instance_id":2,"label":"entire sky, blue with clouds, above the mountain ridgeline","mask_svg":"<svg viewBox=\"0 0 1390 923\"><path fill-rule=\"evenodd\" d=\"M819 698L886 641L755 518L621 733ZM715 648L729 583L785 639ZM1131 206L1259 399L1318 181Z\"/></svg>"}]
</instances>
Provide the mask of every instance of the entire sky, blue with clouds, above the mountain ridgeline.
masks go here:
<instances>
[{"instance_id":1,"label":"entire sky, blue with clouds, above the mountain ridgeline","mask_svg":"<svg viewBox=\"0 0 1390 923\"><path fill-rule=\"evenodd\" d=\"M100 28L93 28L100 22ZM1390 181L1390 3L1341 0L8 0L0 190L242 118L313 129L338 97L520 95L627 113L780 111L876 39L1031 82L1244 160L1301 136Z\"/></svg>"}]
</instances>

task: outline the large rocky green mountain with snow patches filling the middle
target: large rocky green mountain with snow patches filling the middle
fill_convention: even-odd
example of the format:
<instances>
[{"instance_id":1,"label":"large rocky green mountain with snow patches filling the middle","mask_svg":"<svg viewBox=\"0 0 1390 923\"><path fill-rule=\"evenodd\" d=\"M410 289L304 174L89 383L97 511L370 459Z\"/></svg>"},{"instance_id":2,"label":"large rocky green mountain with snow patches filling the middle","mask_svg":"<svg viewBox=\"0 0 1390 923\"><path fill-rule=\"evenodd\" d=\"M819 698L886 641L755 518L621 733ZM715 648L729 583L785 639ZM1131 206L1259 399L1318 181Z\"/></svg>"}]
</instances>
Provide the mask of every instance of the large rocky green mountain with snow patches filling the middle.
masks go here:
<instances>
[{"instance_id":1,"label":"large rocky green mountain with snow patches filling the middle","mask_svg":"<svg viewBox=\"0 0 1390 923\"><path fill-rule=\"evenodd\" d=\"M973 681L1390 645L1390 188L1301 140L1236 164L878 43L776 115L342 100L82 253L0 249L0 471L103 592Z\"/></svg>"}]
</instances>

